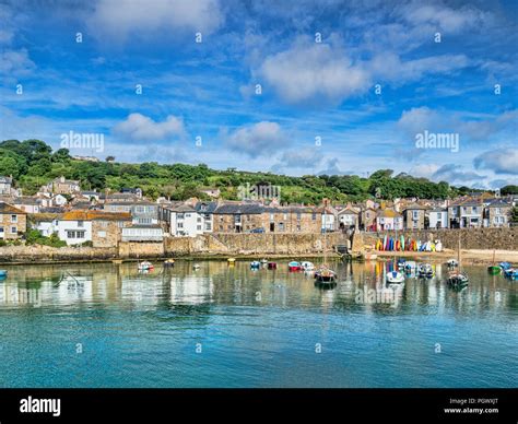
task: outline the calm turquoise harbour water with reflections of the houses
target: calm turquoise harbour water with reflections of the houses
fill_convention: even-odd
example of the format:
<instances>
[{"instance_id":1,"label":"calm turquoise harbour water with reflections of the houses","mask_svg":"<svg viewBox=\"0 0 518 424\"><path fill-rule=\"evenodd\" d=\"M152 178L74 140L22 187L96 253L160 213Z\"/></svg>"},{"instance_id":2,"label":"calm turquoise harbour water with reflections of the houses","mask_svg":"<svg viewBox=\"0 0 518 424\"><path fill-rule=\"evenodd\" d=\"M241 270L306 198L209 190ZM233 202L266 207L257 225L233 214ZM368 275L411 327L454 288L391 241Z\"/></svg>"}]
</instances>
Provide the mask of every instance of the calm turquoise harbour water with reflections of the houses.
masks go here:
<instances>
[{"instance_id":1,"label":"calm turquoise harbour water with reflections of the houses","mask_svg":"<svg viewBox=\"0 0 518 424\"><path fill-rule=\"evenodd\" d=\"M384 262L334 263L333 290L199 263L2 267L1 387L516 387L518 285L485 267L372 304Z\"/></svg>"}]
</instances>

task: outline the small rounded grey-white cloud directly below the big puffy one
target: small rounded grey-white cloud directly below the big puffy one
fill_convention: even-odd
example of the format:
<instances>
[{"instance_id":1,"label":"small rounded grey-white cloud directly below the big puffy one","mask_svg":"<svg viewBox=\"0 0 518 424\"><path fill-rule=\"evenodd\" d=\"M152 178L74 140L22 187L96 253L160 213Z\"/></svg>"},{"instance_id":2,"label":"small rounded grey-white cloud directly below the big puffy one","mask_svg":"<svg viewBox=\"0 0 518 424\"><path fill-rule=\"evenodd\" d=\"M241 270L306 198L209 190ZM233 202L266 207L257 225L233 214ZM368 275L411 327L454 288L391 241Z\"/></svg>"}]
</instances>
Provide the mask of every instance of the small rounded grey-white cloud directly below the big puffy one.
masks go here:
<instances>
[{"instance_id":1,"label":"small rounded grey-white cloud directly below the big puffy one","mask_svg":"<svg viewBox=\"0 0 518 424\"><path fill-rule=\"evenodd\" d=\"M272 155L278 149L289 144L289 140L279 123L270 121L243 127L232 133L226 133L224 130L222 131L222 138L226 145L235 152L242 152L251 157Z\"/></svg>"}]
</instances>

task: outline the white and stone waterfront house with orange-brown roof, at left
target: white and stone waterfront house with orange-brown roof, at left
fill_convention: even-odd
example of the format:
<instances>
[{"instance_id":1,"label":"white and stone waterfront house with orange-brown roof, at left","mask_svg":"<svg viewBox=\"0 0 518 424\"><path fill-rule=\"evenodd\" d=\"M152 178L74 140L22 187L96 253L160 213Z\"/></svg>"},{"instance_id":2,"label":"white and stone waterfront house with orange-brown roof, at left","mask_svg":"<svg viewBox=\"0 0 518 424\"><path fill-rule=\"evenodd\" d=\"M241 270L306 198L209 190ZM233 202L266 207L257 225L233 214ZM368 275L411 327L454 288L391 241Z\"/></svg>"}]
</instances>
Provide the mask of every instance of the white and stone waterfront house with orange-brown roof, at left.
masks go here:
<instances>
[{"instance_id":1,"label":"white and stone waterfront house with orange-brown roof, at left","mask_svg":"<svg viewBox=\"0 0 518 424\"><path fill-rule=\"evenodd\" d=\"M129 213L71 211L59 219L58 235L67 245L92 242L94 247L115 247L121 238L121 229L128 225L131 225Z\"/></svg>"}]
</instances>

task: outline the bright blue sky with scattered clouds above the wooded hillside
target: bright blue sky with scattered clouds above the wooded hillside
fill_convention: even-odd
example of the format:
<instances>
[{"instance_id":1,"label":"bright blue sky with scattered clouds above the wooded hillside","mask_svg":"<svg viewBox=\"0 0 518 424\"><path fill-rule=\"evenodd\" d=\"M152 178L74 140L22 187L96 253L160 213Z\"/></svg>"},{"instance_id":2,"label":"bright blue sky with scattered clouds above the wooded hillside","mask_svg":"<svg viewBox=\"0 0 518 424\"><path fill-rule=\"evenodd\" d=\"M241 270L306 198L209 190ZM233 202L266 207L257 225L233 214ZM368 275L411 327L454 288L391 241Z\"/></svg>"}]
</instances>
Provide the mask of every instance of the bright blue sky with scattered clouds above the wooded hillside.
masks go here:
<instances>
[{"instance_id":1,"label":"bright blue sky with scattered clouds above the wooded hillside","mask_svg":"<svg viewBox=\"0 0 518 424\"><path fill-rule=\"evenodd\" d=\"M105 144L72 154L123 162L518 184L517 1L8 0L0 20L0 139L57 149L73 131ZM417 149L425 131L458 152Z\"/></svg>"}]
</instances>

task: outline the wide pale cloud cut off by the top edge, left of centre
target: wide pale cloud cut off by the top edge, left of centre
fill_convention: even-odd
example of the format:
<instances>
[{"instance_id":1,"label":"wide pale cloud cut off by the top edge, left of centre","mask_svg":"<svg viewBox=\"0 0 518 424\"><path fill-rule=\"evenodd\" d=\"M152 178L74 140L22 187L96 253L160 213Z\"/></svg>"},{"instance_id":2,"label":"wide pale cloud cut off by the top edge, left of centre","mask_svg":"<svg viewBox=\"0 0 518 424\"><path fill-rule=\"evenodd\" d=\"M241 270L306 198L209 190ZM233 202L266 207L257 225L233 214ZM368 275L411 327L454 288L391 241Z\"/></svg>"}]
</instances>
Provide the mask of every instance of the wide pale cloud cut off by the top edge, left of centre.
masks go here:
<instances>
[{"instance_id":1,"label":"wide pale cloud cut off by the top edge, left of centre","mask_svg":"<svg viewBox=\"0 0 518 424\"><path fill-rule=\"evenodd\" d=\"M99 0L87 23L97 36L123 42L138 34L213 33L223 23L217 0Z\"/></svg>"}]
</instances>

